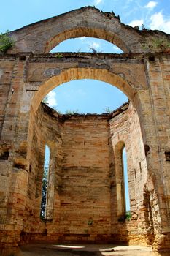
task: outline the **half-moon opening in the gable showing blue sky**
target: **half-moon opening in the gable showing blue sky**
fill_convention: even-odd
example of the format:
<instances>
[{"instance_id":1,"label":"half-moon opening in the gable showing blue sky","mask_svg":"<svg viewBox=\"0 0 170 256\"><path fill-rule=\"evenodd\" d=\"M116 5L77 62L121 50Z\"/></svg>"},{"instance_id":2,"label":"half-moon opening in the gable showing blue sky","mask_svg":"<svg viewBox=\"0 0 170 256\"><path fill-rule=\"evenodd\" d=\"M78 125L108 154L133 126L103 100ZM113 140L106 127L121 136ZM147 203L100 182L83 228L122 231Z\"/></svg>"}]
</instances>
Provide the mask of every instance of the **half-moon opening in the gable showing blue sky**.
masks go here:
<instances>
[{"instance_id":1,"label":"half-moon opening in the gable showing blue sky","mask_svg":"<svg viewBox=\"0 0 170 256\"><path fill-rule=\"evenodd\" d=\"M111 42L93 37L78 37L66 39L61 42L50 53L123 53L123 51ZM58 55L60 58L60 55Z\"/></svg>"}]
</instances>

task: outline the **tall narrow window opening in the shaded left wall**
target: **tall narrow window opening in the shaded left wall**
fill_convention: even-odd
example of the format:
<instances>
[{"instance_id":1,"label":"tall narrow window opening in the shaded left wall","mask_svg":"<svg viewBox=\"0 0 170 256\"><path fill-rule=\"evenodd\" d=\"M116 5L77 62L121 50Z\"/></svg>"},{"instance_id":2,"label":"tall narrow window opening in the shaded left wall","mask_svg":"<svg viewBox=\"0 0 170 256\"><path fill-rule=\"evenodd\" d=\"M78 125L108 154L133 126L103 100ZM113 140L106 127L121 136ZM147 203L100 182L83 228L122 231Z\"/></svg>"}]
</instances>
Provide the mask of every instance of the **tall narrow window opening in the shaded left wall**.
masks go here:
<instances>
[{"instance_id":1,"label":"tall narrow window opening in the shaded left wall","mask_svg":"<svg viewBox=\"0 0 170 256\"><path fill-rule=\"evenodd\" d=\"M48 174L50 168L50 148L45 145L45 162L44 162L44 172L42 176L42 201L41 201L41 219L45 219L46 208L47 208L47 183L48 183Z\"/></svg>"}]
</instances>

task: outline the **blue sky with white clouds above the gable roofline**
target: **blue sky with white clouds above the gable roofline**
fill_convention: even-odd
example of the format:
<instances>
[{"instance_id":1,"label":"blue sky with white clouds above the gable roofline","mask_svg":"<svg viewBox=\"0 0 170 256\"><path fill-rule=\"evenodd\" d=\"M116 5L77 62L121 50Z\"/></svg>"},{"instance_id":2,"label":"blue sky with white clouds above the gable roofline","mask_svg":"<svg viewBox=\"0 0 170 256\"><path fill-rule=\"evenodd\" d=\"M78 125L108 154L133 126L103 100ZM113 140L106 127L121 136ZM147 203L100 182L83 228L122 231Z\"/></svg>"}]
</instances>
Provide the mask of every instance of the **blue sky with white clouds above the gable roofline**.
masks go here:
<instances>
[{"instance_id":1,"label":"blue sky with white clouds above the gable roofline","mask_svg":"<svg viewBox=\"0 0 170 256\"><path fill-rule=\"evenodd\" d=\"M1 1L1 32L18 29L38 20L59 15L83 6L95 6L104 12L115 12L123 23L134 20L148 29L169 31L169 0L9 0ZM135 22L136 24L136 22ZM169 31L170 32L170 31Z\"/></svg>"}]
</instances>

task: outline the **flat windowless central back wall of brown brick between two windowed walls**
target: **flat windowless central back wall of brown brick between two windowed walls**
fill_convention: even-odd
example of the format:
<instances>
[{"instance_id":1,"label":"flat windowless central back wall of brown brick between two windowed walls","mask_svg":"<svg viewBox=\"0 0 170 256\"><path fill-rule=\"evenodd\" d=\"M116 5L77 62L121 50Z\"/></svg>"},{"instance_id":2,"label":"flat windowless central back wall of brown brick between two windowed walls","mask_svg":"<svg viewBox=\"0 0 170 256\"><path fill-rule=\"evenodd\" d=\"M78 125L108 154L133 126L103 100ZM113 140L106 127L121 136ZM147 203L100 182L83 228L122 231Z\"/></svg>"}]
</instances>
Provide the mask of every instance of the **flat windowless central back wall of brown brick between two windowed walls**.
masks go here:
<instances>
[{"instance_id":1,"label":"flat windowless central back wall of brown brick between two windowed walls","mask_svg":"<svg viewBox=\"0 0 170 256\"><path fill-rule=\"evenodd\" d=\"M64 122L61 230L68 239L110 238L108 156L107 116L75 116Z\"/></svg>"}]
</instances>

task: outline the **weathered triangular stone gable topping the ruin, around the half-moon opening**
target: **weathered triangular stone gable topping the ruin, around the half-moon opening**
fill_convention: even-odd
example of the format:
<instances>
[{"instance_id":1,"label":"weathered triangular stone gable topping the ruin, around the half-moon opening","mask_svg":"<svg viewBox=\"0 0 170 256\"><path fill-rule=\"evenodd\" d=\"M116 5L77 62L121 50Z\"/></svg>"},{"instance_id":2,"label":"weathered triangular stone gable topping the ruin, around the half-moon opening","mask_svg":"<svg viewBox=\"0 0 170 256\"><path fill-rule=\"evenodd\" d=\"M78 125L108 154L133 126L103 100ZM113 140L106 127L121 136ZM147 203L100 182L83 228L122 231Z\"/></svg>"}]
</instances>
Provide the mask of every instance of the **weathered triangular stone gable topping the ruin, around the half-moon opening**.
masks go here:
<instances>
[{"instance_id":1,"label":"weathered triangular stone gable topping the ruin, around the half-moon opening","mask_svg":"<svg viewBox=\"0 0 170 256\"><path fill-rule=\"evenodd\" d=\"M147 30L139 31L125 26L113 12L102 12L94 7L82 7L39 21L10 32L10 36L15 46L9 53L47 53L58 43L81 36L105 39L125 53L148 52L153 40L169 40L167 34L158 31L150 34ZM159 46L157 50L160 50Z\"/></svg>"}]
</instances>

